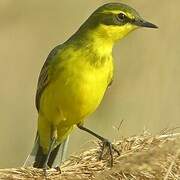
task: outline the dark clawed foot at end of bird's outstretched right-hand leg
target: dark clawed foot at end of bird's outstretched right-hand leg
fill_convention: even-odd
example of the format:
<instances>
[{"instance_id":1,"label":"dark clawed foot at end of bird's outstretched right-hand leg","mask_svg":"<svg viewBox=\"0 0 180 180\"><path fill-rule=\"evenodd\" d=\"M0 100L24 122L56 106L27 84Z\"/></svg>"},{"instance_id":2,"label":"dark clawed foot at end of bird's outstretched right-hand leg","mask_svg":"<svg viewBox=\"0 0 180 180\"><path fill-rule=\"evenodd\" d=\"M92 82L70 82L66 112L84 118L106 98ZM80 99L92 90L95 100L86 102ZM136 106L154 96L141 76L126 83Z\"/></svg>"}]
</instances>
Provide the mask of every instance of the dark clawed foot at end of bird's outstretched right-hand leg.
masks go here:
<instances>
[{"instance_id":1,"label":"dark clawed foot at end of bird's outstretched right-hand leg","mask_svg":"<svg viewBox=\"0 0 180 180\"><path fill-rule=\"evenodd\" d=\"M113 151L116 152L120 156L120 151L108 140L108 139L103 139L102 140L102 145L101 145L101 152L99 156L99 160L102 160L104 150L105 148L109 149L109 154L110 154L110 166L113 166L114 160L113 160Z\"/></svg>"}]
</instances>

